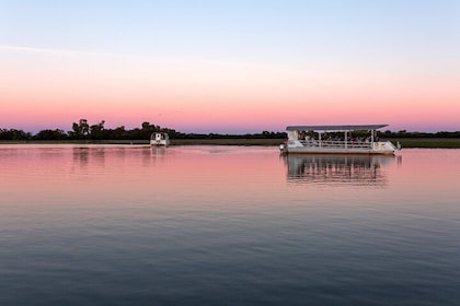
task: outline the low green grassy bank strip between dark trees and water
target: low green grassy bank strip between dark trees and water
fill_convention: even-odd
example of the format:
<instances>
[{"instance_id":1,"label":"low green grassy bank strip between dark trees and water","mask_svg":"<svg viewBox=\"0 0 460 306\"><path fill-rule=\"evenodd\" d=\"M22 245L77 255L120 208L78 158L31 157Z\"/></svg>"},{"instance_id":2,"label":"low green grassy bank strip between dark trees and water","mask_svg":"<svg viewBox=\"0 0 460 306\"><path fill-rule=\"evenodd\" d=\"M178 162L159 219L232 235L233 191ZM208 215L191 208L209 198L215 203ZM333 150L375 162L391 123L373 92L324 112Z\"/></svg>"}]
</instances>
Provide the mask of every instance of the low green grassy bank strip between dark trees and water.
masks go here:
<instances>
[{"instance_id":1,"label":"low green grassy bank strip between dark trees and water","mask_svg":"<svg viewBox=\"0 0 460 306\"><path fill-rule=\"evenodd\" d=\"M460 149L459 138L398 138L389 139L396 144L400 142L402 148L438 148L438 149ZM265 145L278 146L285 139L172 139L171 145ZM91 144L149 144L148 140L97 140L97 141L0 141L0 144L14 143L91 143Z\"/></svg>"}]
</instances>

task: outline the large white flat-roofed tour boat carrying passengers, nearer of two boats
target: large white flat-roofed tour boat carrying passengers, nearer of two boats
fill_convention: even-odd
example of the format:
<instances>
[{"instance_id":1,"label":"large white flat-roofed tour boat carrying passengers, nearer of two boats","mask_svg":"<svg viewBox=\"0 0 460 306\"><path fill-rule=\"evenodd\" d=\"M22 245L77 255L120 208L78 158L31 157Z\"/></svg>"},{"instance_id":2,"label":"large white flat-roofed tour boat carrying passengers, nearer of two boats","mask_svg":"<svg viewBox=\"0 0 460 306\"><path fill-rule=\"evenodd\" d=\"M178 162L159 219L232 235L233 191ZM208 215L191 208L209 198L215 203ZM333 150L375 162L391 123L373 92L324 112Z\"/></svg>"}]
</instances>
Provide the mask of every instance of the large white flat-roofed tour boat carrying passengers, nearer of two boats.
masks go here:
<instances>
[{"instance_id":1,"label":"large white flat-roofed tour boat carrying passengers, nearer of two boats","mask_svg":"<svg viewBox=\"0 0 460 306\"><path fill-rule=\"evenodd\" d=\"M379 141L377 130L388 125L289 126L284 154L394 154L400 143Z\"/></svg>"}]
</instances>

